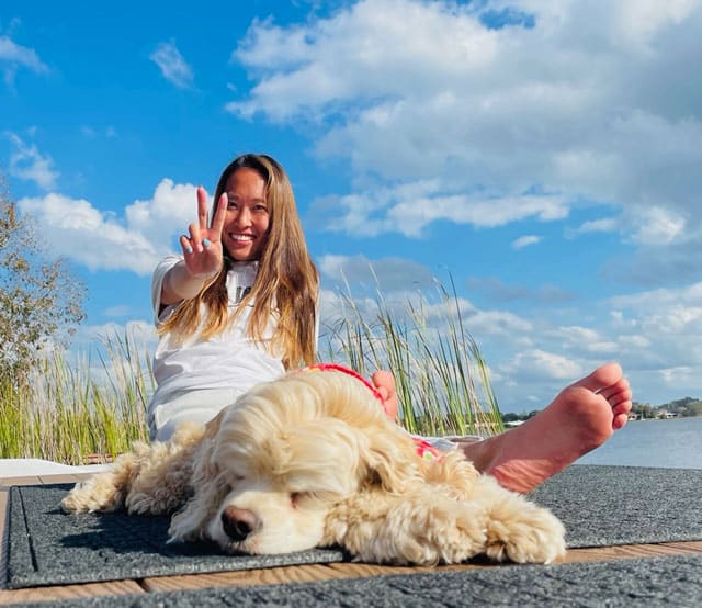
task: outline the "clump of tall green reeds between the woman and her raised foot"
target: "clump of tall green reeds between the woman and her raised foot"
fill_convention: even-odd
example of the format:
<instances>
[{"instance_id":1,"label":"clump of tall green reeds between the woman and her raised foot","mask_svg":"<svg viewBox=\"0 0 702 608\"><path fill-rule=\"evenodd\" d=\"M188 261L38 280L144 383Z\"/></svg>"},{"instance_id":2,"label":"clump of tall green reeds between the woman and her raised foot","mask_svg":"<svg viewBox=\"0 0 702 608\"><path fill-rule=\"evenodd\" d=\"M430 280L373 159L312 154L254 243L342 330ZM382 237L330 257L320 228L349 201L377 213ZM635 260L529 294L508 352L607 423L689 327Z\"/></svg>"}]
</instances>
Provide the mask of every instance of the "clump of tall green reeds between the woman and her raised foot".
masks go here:
<instances>
[{"instance_id":1,"label":"clump of tall green reeds between the woman and her raised foot","mask_svg":"<svg viewBox=\"0 0 702 608\"><path fill-rule=\"evenodd\" d=\"M455 286L438 283L438 301L424 293L399 304L376 291L372 302L340 294L340 311L325 334L326 353L361 373L395 375L399 417L410 432L495 435L503 430L489 370L467 331Z\"/></svg>"}]
</instances>

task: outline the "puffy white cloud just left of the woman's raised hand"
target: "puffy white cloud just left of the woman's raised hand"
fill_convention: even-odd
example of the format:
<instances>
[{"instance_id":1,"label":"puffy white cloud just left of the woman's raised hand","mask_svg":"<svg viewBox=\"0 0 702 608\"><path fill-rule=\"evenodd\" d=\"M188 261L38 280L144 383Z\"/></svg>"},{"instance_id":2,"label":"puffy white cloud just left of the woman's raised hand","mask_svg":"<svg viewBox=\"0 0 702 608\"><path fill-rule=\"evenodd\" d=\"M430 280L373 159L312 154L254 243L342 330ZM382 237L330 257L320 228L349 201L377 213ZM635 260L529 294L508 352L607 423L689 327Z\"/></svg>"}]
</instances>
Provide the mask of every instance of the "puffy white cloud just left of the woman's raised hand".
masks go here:
<instances>
[{"instance_id":1,"label":"puffy white cloud just left of the woman's raised hand","mask_svg":"<svg viewBox=\"0 0 702 608\"><path fill-rule=\"evenodd\" d=\"M89 201L50 193L19 201L56 255L91 270L152 272L171 250L171 239L195 217L195 187L163 179L148 201L135 201L124 219L101 212Z\"/></svg>"}]
</instances>

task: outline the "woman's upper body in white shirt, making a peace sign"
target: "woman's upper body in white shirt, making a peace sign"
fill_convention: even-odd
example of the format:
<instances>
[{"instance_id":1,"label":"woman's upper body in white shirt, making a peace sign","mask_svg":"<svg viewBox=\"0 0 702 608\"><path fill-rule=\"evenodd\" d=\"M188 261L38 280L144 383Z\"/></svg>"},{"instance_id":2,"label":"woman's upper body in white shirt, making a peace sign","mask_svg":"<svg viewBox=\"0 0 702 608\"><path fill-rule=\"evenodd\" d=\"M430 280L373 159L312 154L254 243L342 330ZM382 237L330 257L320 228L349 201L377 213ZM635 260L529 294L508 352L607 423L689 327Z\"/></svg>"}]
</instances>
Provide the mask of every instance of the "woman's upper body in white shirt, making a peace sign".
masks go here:
<instances>
[{"instance_id":1,"label":"woman's upper body in white shirt, making a peace sign","mask_svg":"<svg viewBox=\"0 0 702 608\"><path fill-rule=\"evenodd\" d=\"M285 171L269 156L240 156L223 171L214 201L210 223L197 189L182 257L167 257L154 273L152 440L315 362L318 275Z\"/></svg>"}]
</instances>

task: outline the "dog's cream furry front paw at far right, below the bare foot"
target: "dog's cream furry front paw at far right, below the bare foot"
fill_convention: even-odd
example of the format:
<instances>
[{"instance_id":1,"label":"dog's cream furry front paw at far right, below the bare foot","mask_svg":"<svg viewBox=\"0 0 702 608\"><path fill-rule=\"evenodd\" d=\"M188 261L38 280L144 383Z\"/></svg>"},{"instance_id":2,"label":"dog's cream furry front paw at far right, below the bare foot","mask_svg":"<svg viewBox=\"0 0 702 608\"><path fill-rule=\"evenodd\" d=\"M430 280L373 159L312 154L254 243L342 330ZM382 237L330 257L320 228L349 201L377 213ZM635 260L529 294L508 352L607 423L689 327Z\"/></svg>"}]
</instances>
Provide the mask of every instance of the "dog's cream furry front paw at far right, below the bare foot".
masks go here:
<instances>
[{"instance_id":1,"label":"dog's cream furry front paw at far right, below the bare foot","mask_svg":"<svg viewBox=\"0 0 702 608\"><path fill-rule=\"evenodd\" d=\"M524 500L513 517L489 521L485 552L496 561L548 564L565 555L565 528L550 510Z\"/></svg>"}]
</instances>

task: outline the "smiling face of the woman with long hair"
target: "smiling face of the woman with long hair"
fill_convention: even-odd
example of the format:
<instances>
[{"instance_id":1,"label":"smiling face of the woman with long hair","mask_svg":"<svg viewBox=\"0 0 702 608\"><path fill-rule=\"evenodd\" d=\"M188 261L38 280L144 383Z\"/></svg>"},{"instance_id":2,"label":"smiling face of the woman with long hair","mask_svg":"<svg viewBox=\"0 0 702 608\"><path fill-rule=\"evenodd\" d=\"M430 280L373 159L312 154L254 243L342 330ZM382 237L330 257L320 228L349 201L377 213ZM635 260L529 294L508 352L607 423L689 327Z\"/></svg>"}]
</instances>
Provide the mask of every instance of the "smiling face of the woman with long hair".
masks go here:
<instances>
[{"instance_id":1,"label":"smiling face of the woman with long hair","mask_svg":"<svg viewBox=\"0 0 702 608\"><path fill-rule=\"evenodd\" d=\"M227 179L227 215L222 243L236 261L261 258L268 241L270 214L265 198L265 180L248 167L234 171Z\"/></svg>"}]
</instances>

